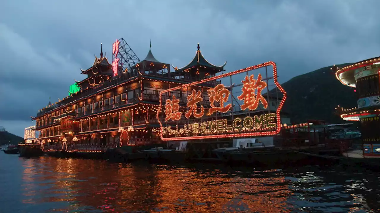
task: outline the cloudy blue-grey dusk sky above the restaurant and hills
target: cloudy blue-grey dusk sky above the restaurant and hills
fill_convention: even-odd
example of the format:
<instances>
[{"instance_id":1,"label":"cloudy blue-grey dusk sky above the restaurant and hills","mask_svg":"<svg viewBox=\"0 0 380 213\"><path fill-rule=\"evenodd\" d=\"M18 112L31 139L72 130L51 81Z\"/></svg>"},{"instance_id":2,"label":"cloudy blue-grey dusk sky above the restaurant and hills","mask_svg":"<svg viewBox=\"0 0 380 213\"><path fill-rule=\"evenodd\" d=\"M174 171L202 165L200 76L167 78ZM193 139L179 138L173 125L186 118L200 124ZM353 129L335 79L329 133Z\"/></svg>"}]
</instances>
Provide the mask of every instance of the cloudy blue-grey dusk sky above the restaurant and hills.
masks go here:
<instances>
[{"instance_id":1,"label":"cloudy blue-grey dusk sky above the restaurant and hills","mask_svg":"<svg viewBox=\"0 0 380 213\"><path fill-rule=\"evenodd\" d=\"M380 55L378 1L19 0L0 8L0 126L23 135L30 116L67 96L112 42L123 37L140 59L152 52L182 67L197 42L226 70L275 61L279 81Z\"/></svg>"}]
</instances>

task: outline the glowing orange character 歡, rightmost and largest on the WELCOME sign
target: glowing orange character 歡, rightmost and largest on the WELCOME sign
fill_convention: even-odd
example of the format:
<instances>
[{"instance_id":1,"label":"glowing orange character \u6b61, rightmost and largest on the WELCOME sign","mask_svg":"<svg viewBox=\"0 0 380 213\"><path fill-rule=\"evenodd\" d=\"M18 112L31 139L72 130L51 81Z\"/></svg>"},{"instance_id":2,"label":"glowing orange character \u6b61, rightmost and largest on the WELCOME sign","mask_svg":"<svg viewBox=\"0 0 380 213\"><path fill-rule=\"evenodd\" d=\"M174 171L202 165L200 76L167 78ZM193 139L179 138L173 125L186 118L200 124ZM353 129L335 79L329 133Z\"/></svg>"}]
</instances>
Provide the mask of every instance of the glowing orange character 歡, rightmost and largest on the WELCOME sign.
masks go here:
<instances>
[{"instance_id":1,"label":"glowing orange character \u6b61, rightmost and largest on the WELCOME sign","mask_svg":"<svg viewBox=\"0 0 380 213\"><path fill-rule=\"evenodd\" d=\"M242 110L245 110L247 108L249 110L256 110L260 100L261 103L263 103L264 108L268 107L268 102L261 94L261 91L263 91L267 85L264 81L261 81L261 79L261 74L258 74L257 80L253 77L253 75L250 75L249 77L245 76L245 80L242 81L243 93L240 96L237 96L237 99L244 100L244 104L241 105Z\"/></svg>"}]
</instances>

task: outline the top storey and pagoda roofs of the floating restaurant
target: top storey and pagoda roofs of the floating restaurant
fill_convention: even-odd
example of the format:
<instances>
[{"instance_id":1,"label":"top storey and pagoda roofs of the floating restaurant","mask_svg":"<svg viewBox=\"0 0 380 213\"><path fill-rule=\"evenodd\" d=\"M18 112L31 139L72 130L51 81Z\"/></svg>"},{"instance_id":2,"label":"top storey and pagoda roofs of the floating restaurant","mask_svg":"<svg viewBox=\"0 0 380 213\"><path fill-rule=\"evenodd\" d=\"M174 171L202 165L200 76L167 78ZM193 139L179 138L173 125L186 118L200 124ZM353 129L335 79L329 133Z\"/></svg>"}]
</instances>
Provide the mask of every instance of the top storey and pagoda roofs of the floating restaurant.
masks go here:
<instances>
[{"instance_id":1,"label":"top storey and pagoda roofs of the floating restaurant","mask_svg":"<svg viewBox=\"0 0 380 213\"><path fill-rule=\"evenodd\" d=\"M199 57L204 59L200 53L199 44L196 56L193 58L193 61L197 61ZM100 59L96 59L98 61L102 59L102 54ZM103 61L105 61L104 57ZM204 59L204 61L206 60ZM130 107L138 103L158 105L159 92L161 90L171 86L179 86L204 78L210 78L215 76L217 72L224 71L224 65L218 66L218 69L215 69L213 64L207 66L204 63L193 63L189 69L178 70L174 68L171 72L170 65L161 63L155 59L151 50L149 50L144 60L133 65L130 70L118 70L118 75L111 78L108 75L111 69L108 63L103 68L98 65L95 61L94 65L87 69L92 70L87 73L89 74L87 78L99 75L103 81L98 85L90 84L85 86L81 83L85 82L87 78L79 81L79 83L77 81L78 85L81 86L78 92L71 93L70 96L59 100L59 102L49 103L47 107L37 113L36 117L32 117L35 120L41 120L41 122L37 122L36 129L59 125L59 120L65 117L77 119ZM207 81L198 86L211 88L218 84L220 84L220 81L214 80ZM113 96L110 94L113 94ZM178 97L179 99L186 99L185 94L183 96L182 94L178 94ZM90 99L92 100L90 101ZM40 119L41 117L44 117L44 119Z\"/></svg>"}]
</instances>

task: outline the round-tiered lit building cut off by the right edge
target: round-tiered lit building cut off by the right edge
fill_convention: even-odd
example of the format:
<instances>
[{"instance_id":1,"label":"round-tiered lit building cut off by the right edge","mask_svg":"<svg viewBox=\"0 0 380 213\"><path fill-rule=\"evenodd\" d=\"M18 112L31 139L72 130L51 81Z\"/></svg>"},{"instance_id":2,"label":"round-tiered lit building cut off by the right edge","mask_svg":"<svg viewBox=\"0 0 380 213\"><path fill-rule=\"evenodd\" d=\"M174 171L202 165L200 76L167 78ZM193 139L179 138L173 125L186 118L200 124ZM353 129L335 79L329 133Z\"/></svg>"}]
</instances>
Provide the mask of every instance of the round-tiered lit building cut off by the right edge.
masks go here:
<instances>
[{"instance_id":1,"label":"round-tiered lit building cut off by the right edge","mask_svg":"<svg viewBox=\"0 0 380 213\"><path fill-rule=\"evenodd\" d=\"M344 109L338 106L337 113L345 121L360 121L363 150L357 150L361 158L380 157L380 57L338 68L334 66L336 78L344 85L355 88L358 107ZM351 153L354 156L355 152Z\"/></svg>"}]
</instances>

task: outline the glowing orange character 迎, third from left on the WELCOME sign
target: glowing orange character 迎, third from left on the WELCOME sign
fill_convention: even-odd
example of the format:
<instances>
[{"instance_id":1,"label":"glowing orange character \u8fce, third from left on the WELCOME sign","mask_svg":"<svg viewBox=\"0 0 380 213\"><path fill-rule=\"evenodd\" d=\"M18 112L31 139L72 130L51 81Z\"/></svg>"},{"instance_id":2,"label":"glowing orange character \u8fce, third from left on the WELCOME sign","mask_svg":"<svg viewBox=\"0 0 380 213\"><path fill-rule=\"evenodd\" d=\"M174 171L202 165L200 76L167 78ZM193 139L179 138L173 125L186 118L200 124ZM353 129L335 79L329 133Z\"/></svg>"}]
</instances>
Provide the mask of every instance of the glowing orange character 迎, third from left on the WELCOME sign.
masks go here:
<instances>
[{"instance_id":1,"label":"glowing orange character \u8fce, third from left on the WELCOME sign","mask_svg":"<svg viewBox=\"0 0 380 213\"><path fill-rule=\"evenodd\" d=\"M207 90L207 94L210 96L210 106L209 112L207 113L210 116L214 112L225 113L231 109L232 104L228 104L224 106L224 103L227 102L228 96L230 96L230 91L224 87L224 85L220 84L215 86L215 88L211 88ZM215 106L215 102L219 103L219 107Z\"/></svg>"}]
</instances>

